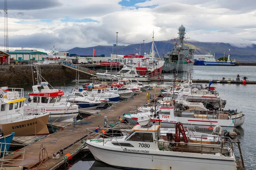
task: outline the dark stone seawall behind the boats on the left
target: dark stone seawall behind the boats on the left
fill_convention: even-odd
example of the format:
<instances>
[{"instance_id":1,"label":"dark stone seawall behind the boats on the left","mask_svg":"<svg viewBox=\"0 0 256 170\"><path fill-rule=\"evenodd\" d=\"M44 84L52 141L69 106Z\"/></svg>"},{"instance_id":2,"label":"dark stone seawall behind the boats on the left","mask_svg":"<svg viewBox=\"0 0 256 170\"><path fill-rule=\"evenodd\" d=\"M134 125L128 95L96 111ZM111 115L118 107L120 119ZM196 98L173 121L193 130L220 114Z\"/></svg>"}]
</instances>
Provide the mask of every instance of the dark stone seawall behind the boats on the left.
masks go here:
<instances>
[{"instance_id":1,"label":"dark stone seawall behind the boats on the left","mask_svg":"<svg viewBox=\"0 0 256 170\"><path fill-rule=\"evenodd\" d=\"M40 65L41 75L47 81L76 79L76 71L62 65ZM35 65L2 65L0 66L0 87L10 85L24 85L35 81ZM90 79L90 75L79 73L80 79Z\"/></svg>"}]
</instances>

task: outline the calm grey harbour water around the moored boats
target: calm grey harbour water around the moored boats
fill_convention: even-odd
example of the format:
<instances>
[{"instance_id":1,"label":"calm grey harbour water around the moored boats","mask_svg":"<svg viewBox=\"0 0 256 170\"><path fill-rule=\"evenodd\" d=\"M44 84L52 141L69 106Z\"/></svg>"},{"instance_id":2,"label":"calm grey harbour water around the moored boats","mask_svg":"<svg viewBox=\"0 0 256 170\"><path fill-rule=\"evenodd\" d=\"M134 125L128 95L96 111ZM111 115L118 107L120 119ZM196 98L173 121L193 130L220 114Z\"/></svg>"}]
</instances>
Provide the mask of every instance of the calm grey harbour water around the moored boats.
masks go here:
<instances>
[{"instance_id":1,"label":"calm grey harbour water around the moored boats","mask_svg":"<svg viewBox=\"0 0 256 170\"><path fill-rule=\"evenodd\" d=\"M255 66L194 66L192 70L192 79L236 79L236 75L248 77L248 80L256 81ZM165 78L171 78L171 74L164 74ZM182 78L183 73L178 73L178 78ZM47 77L45 77L47 79ZM80 84L89 80L80 80ZM64 91L71 91L76 84L75 80L65 80L50 82L54 88ZM170 82L156 82L159 86L169 85ZM238 109L245 114L245 122L239 127L241 135L237 138L241 141L241 150L247 170L254 170L256 167L256 85L238 85L238 84L213 84L217 88L222 99L227 100L226 109ZM31 86L21 86L25 93L32 91ZM237 156L239 156L236 150ZM70 170L116 170L116 168L102 164L98 161L78 161Z\"/></svg>"}]
</instances>

